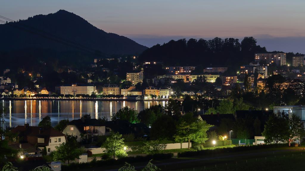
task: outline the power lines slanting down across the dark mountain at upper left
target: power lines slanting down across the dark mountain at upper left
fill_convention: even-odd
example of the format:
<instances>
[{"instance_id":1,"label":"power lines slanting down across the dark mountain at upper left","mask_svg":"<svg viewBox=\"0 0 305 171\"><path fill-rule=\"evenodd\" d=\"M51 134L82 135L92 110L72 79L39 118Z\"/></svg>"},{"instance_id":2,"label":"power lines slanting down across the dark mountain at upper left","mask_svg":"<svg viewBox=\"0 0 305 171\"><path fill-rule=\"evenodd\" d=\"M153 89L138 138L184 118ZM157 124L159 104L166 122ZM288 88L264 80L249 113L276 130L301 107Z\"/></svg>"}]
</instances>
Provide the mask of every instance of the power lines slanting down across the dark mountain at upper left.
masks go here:
<instances>
[{"instance_id":1,"label":"power lines slanting down across the dark mountain at upper left","mask_svg":"<svg viewBox=\"0 0 305 171\"><path fill-rule=\"evenodd\" d=\"M25 25L25 24L16 22L16 21L14 21L14 20L12 20L12 19L9 19L9 18L7 18L7 17L4 17L4 16L0 16L0 18L2 18L2 19L7 19L7 20L10 21L10 22L6 23L5 21L0 20L1 23L9 24L10 26L16 27L16 28L18 28L18 29L20 29L20 30L27 31L27 32L32 33L32 34L37 34L37 35L40 35L41 37L44 37L44 38L46 38L46 39L53 40L53 41L55 41L55 42L58 42L58 43L61 43L61 44L65 44L65 45L70 46L70 47L74 47L74 48L76 48L76 49L79 49L79 50L88 52L88 53L90 53L90 54L97 55L95 52L92 52L92 51L96 51L96 50L95 50L95 49L92 49L92 48L90 48L90 47L86 47L86 46L84 46L84 45L75 43L75 42L73 42L73 41L70 41L70 40L67 40L67 39L58 37L58 36L53 35L53 34L51 34L51 33L47 33L47 32L45 32L45 31L43 31L43 30L38 30L38 29L36 29L36 28L34 28L34 27L27 26L27 25ZM16 25L26 26L26 27L29 27L29 28L32 29L32 30L29 30L29 29L26 29L26 28L23 28L23 27L20 27L20 26L16 26ZM33 30L37 30L37 31L42 32L42 33L38 33L37 31L33 31ZM47 34L47 35L49 35L49 36L44 35L44 34ZM51 36L51 37L50 37L50 36ZM59 39L59 40L57 40L57 39ZM64 41L66 41L66 42L64 42ZM67 42L68 42L68 43L67 43ZM79 46L80 46L80 47L79 47ZM104 54L104 55L107 55L106 53L103 53L103 52L101 52L101 53Z\"/></svg>"}]
</instances>

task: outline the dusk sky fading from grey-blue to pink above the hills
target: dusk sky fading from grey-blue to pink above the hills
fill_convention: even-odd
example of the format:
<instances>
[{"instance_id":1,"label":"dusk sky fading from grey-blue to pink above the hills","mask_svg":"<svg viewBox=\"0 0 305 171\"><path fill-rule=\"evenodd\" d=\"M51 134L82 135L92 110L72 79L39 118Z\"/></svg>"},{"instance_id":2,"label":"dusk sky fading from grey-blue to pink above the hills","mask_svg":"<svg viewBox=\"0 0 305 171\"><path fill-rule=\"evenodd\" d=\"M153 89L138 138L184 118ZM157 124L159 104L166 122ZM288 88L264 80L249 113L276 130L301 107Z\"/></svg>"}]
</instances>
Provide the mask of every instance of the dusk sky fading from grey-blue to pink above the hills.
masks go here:
<instances>
[{"instance_id":1,"label":"dusk sky fading from grey-blue to pink above the hills","mask_svg":"<svg viewBox=\"0 0 305 171\"><path fill-rule=\"evenodd\" d=\"M151 47L171 39L253 36L267 51L305 53L305 1L61 0L4 1L10 19L64 9L94 26Z\"/></svg>"}]
</instances>

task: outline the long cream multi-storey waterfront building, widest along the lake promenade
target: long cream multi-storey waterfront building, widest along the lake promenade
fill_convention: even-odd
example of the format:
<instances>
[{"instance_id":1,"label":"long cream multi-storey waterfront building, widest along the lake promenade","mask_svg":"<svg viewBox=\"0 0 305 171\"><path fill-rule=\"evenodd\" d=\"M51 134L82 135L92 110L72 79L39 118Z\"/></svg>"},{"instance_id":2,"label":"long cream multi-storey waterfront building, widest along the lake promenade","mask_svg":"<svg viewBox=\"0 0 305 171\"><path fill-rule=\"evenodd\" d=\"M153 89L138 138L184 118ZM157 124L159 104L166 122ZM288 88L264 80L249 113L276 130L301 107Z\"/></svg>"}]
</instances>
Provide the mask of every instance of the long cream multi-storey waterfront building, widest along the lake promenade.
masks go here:
<instances>
[{"instance_id":1,"label":"long cream multi-storey waterfront building, widest along the lake promenade","mask_svg":"<svg viewBox=\"0 0 305 171\"><path fill-rule=\"evenodd\" d=\"M66 95L70 94L76 96L77 94L88 94L91 95L92 92L95 92L96 87L93 85L81 85L81 84L72 84L72 85L63 85L60 86L60 94Z\"/></svg>"}]
</instances>

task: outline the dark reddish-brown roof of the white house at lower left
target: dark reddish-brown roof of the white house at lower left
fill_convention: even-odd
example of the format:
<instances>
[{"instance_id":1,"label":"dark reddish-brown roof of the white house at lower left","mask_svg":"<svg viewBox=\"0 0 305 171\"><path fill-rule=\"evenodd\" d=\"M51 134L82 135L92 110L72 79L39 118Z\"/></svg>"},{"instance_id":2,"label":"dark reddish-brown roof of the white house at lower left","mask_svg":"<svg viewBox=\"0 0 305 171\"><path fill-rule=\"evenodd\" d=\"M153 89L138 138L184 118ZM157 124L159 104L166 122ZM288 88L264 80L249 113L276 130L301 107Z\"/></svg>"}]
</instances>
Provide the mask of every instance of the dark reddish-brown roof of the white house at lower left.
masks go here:
<instances>
[{"instance_id":1,"label":"dark reddish-brown roof of the white house at lower left","mask_svg":"<svg viewBox=\"0 0 305 171\"><path fill-rule=\"evenodd\" d=\"M13 133L18 133L23 143L29 143L34 145L37 143L37 138L45 138L44 143L38 143L38 145L48 145L50 137L66 136L65 134L55 130L54 128L36 127L36 126L24 126L18 125L11 130ZM28 138L37 137L37 138Z\"/></svg>"}]
</instances>

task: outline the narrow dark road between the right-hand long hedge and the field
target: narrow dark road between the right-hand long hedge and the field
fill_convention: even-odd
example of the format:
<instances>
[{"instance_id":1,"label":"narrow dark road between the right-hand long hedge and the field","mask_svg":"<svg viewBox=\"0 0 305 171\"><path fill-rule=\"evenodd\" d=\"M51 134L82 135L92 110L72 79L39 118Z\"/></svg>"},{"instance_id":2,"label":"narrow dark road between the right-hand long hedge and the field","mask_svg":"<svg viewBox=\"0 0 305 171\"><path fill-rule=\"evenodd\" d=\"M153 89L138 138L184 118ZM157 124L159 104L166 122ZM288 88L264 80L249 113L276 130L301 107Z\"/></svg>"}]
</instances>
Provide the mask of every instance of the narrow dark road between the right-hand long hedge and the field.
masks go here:
<instances>
[{"instance_id":1,"label":"narrow dark road between the right-hand long hedge and the field","mask_svg":"<svg viewBox=\"0 0 305 171\"><path fill-rule=\"evenodd\" d=\"M250 155L261 155L261 154L270 154L274 152L284 152L284 151L299 151L301 149L287 149L287 150L276 150L276 151L268 151L268 152L256 152L256 153L245 153L245 154L235 154L235 155L224 155L224 156L217 156L217 157L207 157L207 158L201 158L201 159L193 159L193 160L183 160L178 162L167 162L167 163L160 163L156 164L156 166L164 166L164 165L174 165L174 164L181 164L181 163L188 163L188 162L198 162L198 161L206 161L206 160L212 160L212 159L223 159L223 158L230 158L230 157L237 157L237 156L250 156ZM302 150L303 151L303 150ZM145 166L137 166L135 169L141 169ZM117 171L118 169L112 169L112 170L105 170L105 171Z\"/></svg>"}]
</instances>

